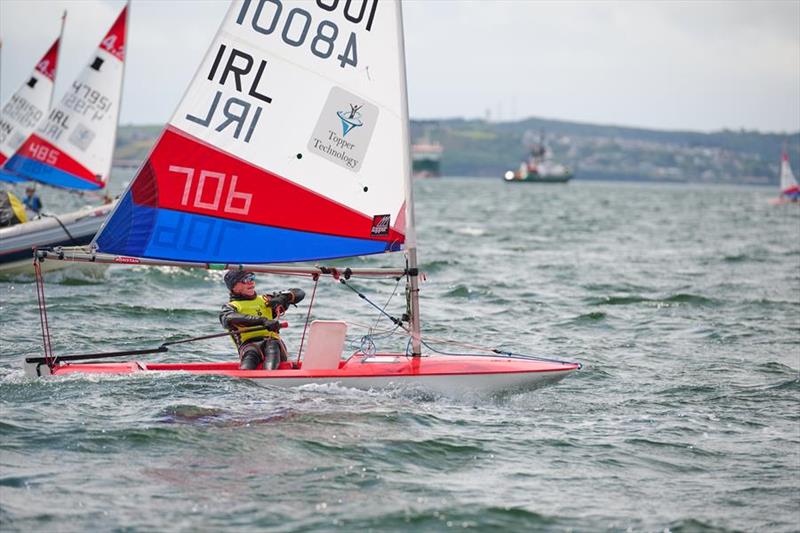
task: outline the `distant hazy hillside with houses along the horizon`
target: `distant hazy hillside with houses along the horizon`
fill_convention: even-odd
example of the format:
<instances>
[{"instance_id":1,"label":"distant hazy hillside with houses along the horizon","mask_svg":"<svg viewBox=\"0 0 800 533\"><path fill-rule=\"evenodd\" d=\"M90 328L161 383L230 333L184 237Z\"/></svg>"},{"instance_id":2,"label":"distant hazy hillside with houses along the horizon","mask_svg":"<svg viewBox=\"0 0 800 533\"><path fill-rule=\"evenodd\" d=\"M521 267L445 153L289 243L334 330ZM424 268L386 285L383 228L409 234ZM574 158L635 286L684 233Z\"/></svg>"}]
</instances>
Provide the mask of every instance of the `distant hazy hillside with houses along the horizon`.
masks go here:
<instances>
[{"instance_id":1,"label":"distant hazy hillside with houses along the horizon","mask_svg":"<svg viewBox=\"0 0 800 533\"><path fill-rule=\"evenodd\" d=\"M115 160L138 165L161 128L121 126ZM699 133L538 118L411 121L412 139L424 137L444 147L441 166L447 176L499 178L526 156L523 141L541 133L554 158L577 170L576 179L774 184L784 144L794 168L800 168L800 131Z\"/></svg>"}]
</instances>

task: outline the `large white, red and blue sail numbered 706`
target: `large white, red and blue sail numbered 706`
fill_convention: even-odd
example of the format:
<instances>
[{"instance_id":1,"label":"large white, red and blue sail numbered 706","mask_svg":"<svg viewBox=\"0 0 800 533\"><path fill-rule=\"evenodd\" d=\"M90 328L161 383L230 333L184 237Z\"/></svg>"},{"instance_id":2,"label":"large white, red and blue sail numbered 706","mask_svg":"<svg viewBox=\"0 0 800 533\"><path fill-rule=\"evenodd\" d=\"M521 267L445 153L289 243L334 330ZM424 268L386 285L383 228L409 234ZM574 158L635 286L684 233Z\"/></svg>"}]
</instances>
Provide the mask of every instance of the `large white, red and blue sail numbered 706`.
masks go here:
<instances>
[{"instance_id":1,"label":"large white, red and blue sail numbered 706","mask_svg":"<svg viewBox=\"0 0 800 533\"><path fill-rule=\"evenodd\" d=\"M234 264L400 250L407 122L397 2L235 0L94 245Z\"/></svg>"}]
</instances>

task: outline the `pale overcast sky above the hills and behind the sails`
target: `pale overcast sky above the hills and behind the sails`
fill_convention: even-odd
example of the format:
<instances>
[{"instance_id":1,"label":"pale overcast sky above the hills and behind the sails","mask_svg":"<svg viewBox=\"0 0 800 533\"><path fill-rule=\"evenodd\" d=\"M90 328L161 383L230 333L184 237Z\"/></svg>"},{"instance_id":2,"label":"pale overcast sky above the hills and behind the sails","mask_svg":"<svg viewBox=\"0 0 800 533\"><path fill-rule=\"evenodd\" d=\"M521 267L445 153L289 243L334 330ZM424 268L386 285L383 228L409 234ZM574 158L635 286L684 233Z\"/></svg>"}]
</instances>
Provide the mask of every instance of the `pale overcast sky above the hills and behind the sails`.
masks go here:
<instances>
[{"instance_id":1,"label":"pale overcast sky above the hills and behind the sails","mask_svg":"<svg viewBox=\"0 0 800 533\"><path fill-rule=\"evenodd\" d=\"M0 97L67 9L56 97L124 2L0 0ZM133 0L121 121L172 115L227 0ZM800 130L800 1L404 2L411 117Z\"/></svg>"}]
</instances>

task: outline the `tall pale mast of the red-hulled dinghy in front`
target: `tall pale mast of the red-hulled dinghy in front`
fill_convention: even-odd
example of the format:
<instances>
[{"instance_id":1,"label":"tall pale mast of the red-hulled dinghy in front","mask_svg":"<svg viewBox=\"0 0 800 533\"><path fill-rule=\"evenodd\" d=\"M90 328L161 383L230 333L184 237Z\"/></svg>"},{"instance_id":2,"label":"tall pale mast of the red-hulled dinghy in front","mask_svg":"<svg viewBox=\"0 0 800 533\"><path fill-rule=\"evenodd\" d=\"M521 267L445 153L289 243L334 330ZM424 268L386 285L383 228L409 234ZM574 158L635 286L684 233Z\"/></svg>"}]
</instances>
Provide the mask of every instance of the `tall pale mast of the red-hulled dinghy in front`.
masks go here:
<instances>
[{"instance_id":1,"label":"tall pale mast of the red-hulled dinghy in front","mask_svg":"<svg viewBox=\"0 0 800 533\"><path fill-rule=\"evenodd\" d=\"M397 0L397 32L400 54L400 104L402 108L402 139L405 156L402 161L403 178L406 189L406 259L408 262L409 300L411 312L411 355L419 357L422 354L420 341L419 319L419 272L417 269L417 232L414 227L414 186L411 181L411 135L409 134L408 118L408 78L406 76L406 47L403 34L403 6Z\"/></svg>"}]
</instances>

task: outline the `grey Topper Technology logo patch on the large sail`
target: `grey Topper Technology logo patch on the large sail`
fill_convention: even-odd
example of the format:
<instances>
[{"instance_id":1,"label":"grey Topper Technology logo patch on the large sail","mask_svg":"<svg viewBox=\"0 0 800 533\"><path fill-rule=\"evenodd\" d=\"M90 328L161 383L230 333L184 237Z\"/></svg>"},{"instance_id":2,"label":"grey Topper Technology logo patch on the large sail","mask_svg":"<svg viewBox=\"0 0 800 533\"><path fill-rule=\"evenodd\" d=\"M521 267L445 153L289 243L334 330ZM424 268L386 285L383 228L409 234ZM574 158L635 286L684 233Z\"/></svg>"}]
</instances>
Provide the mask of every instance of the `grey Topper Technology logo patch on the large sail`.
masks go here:
<instances>
[{"instance_id":1,"label":"grey Topper Technology logo patch on the large sail","mask_svg":"<svg viewBox=\"0 0 800 533\"><path fill-rule=\"evenodd\" d=\"M308 150L358 172L377 121L377 106L341 87L331 87L308 141Z\"/></svg>"}]
</instances>

